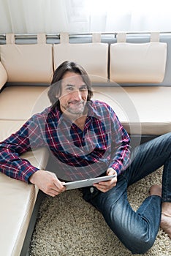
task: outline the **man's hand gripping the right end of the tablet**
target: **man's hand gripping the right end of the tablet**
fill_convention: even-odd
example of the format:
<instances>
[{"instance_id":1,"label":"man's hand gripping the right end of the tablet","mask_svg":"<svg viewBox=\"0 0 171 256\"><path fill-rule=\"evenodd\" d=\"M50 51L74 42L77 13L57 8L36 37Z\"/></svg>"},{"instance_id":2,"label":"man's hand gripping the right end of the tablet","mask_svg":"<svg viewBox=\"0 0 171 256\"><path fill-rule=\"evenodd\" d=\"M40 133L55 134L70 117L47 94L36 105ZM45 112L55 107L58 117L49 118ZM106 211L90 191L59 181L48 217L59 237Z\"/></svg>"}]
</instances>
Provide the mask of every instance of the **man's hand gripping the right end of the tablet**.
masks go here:
<instances>
[{"instance_id":1,"label":"man's hand gripping the right end of the tablet","mask_svg":"<svg viewBox=\"0 0 171 256\"><path fill-rule=\"evenodd\" d=\"M114 178L112 178L110 181L101 181L99 183L95 183L94 187L96 187L97 189L99 189L102 192L107 192L110 189L112 189L113 187L115 187L115 185L117 183L117 173L112 167L108 168L107 175L113 175L113 174L115 174L116 176Z\"/></svg>"}]
</instances>

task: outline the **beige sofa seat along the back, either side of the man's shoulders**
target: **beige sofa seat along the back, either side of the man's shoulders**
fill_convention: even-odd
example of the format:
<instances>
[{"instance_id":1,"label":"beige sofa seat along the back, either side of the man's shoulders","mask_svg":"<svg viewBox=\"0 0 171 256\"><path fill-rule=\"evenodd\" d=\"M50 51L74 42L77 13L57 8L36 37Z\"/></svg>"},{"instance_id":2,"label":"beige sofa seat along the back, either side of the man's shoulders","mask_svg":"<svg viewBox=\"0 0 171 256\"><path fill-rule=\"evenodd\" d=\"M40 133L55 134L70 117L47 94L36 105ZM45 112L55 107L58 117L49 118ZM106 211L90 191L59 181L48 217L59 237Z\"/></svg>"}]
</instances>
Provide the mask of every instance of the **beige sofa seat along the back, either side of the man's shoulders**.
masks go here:
<instances>
[{"instance_id":1,"label":"beige sofa seat along the back, either side of the man's shoulders","mask_svg":"<svg viewBox=\"0 0 171 256\"><path fill-rule=\"evenodd\" d=\"M5 88L0 94L0 121L20 121L20 125L23 124L22 121L50 105L47 91L45 86ZM93 98L108 102L130 134L162 135L171 131L170 95L171 86L121 87L110 84L94 86ZM8 122L3 125L8 129L11 127ZM1 129L1 132L6 130Z\"/></svg>"}]
</instances>

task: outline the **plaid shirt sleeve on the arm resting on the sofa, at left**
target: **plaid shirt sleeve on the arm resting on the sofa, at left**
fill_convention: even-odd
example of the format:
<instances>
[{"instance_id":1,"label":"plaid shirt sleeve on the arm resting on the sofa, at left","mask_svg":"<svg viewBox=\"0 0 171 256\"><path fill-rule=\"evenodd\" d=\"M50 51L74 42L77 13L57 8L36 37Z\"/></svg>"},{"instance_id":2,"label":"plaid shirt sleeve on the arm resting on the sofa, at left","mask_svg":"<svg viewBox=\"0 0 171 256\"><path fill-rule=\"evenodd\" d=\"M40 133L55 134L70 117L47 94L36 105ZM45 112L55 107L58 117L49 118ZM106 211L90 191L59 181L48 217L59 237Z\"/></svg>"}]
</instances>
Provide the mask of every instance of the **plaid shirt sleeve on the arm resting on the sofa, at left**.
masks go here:
<instances>
[{"instance_id":1,"label":"plaid shirt sleeve on the arm resting on the sofa, at left","mask_svg":"<svg viewBox=\"0 0 171 256\"><path fill-rule=\"evenodd\" d=\"M7 176L21 181L28 178L37 170L27 159L22 159L21 154L26 151L45 146L40 127L35 118L23 124L18 132L12 134L0 143L0 171Z\"/></svg>"}]
</instances>

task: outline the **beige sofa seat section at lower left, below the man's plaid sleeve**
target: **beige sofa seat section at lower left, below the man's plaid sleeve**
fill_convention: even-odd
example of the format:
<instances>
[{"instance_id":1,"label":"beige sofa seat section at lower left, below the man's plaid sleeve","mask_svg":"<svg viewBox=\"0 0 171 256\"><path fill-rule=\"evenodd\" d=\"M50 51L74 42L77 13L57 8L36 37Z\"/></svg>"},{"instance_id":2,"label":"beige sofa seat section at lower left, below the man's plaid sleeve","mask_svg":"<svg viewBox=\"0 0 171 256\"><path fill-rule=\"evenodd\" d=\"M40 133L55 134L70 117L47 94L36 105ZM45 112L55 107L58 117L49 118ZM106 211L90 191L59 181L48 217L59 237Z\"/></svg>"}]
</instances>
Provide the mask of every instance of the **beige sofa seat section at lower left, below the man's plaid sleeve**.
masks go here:
<instances>
[{"instance_id":1,"label":"beige sofa seat section at lower left, below the man's plaid sleeve","mask_svg":"<svg viewBox=\"0 0 171 256\"><path fill-rule=\"evenodd\" d=\"M47 151L41 148L36 154L41 159L39 163L32 152L23 154L23 157L32 165L42 169L47 164ZM0 173L0 255L20 255L37 193L38 189L34 185L17 181Z\"/></svg>"}]
</instances>

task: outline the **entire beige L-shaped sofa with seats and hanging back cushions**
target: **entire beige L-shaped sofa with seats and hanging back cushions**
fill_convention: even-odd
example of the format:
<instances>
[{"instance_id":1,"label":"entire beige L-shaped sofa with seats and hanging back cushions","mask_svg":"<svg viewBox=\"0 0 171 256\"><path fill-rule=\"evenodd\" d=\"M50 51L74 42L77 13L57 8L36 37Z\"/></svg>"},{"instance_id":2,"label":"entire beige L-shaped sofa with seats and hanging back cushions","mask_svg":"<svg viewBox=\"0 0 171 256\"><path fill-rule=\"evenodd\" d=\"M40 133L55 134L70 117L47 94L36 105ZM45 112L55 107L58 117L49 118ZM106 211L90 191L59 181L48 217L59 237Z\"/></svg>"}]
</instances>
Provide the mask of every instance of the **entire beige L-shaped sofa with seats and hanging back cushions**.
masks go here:
<instances>
[{"instance_id":1,"label":"entire beige L-shaped sofa with seats and hanging back cushions","mask_svg":"<svg viewBox=\"0 0 171 256\"><path fill-rule=\"evenodd\" d=\"M159 42L159 34L152 34L151 42L145 44L127 43L123 33L111 45L101 42L99 34L93 34L88 43L70 43L68 34L60 39L58 44L46 43L45 34L38 34L37 43L16 44L15 35L7 34L0 45L0 140L50 105L48 85L54 69L65 60L87 69L94 98L113 107L132 138L139 138L137 143L143 136L171 131L171 81L162 84L168 44ZM47 167L46 148L22 157L36 167ZM0 255L20 255L37 195L37 187L0 173Z\"/></svg>"}]
</instances>

